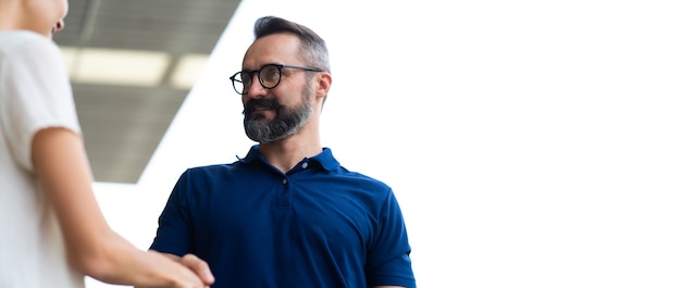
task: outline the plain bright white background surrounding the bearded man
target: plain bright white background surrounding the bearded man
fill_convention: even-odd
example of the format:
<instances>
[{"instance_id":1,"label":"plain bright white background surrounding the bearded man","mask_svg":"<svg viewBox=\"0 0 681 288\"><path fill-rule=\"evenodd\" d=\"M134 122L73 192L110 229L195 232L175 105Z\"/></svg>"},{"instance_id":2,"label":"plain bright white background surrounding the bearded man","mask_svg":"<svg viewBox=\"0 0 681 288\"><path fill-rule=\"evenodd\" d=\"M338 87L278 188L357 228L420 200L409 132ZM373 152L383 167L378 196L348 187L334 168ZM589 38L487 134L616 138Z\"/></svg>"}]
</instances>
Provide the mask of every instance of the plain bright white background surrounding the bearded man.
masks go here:
<instances>
[{"instance_id":1,"label":"plain bright white background surrounding the bearded man","mask_svg":"<svg viewBox=\"0 0 681 288\"><path fill-rule=\"evenodd\" d=\"M676 1L282 2L242 3L138 185L96 184L140 249L252 145L227 77L278 15L326 39L323 145L394 188L419 287L681 287Z\"/></svg>"}]
</instances>

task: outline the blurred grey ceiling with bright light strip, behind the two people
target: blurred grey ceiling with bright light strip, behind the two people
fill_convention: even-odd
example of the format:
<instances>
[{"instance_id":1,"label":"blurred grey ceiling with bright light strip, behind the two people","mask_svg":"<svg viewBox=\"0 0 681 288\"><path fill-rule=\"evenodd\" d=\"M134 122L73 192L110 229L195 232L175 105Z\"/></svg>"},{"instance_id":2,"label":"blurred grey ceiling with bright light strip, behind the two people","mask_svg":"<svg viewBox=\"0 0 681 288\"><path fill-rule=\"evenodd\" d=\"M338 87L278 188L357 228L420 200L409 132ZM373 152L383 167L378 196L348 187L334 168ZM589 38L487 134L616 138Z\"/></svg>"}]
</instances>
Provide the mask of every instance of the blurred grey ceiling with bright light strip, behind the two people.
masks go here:
<instances>
[{"instance_id":1,"label":"blurred grey ceiling with bright light strip, behind the two people","mask_svg":"<svg viewBox=\"0 0 681 288\"><path fill-rule=\"evenodd\" d=\"M70 0L54 36L96 181L135 184L239 0Z\"/></svg>"}]
</instances>

